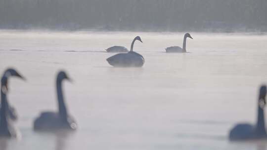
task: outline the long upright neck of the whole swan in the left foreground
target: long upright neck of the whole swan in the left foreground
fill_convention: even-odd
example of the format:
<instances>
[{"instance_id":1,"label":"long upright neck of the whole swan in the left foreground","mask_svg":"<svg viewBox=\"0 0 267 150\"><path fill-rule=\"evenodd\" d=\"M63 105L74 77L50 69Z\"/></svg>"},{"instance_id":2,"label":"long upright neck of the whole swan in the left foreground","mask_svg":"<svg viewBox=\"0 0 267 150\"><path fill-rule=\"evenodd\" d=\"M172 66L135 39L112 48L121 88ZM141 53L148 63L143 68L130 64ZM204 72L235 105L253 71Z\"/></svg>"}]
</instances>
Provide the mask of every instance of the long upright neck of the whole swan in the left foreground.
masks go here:
<instances>
[{"instance_id":1,"label":"long upright neck of the whole swan in the left foreground","mask_svg":"<svg viewBox=\"0 0 267 150\"><path fill-rule=\"evenodd\" d=\"M64 103L64 97L62 92L62 80L56 80L57 100L58 100L58 112L63 119L67 119L67 108Z\"/></svg>"}]
</instances>

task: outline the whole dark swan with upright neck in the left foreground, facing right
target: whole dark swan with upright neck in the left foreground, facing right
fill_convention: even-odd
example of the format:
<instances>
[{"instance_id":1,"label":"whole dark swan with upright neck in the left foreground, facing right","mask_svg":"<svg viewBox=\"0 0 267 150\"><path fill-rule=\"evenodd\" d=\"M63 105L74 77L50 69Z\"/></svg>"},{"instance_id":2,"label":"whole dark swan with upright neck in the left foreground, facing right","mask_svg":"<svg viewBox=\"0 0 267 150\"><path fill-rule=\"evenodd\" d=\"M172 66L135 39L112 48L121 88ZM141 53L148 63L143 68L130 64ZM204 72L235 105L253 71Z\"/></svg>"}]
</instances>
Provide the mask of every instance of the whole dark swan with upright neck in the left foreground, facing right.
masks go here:
<instances>
[{"instance_id":1,"label":"whole dark swan with upright neck in the left foreground, facing right","mask_svg":"<svg viewBox=\"0 0 267 150\"><path fill-rule=\"evenodd\" d=\"M58 112L42 112L41 115L34 121L35 131L56 131L61 129L75 130L77 128L76 121L68 114L64 103L62 93L63 79L71 81L67 74L61 71L58 73L56 78Z\"/></svg>"}]
</instances>

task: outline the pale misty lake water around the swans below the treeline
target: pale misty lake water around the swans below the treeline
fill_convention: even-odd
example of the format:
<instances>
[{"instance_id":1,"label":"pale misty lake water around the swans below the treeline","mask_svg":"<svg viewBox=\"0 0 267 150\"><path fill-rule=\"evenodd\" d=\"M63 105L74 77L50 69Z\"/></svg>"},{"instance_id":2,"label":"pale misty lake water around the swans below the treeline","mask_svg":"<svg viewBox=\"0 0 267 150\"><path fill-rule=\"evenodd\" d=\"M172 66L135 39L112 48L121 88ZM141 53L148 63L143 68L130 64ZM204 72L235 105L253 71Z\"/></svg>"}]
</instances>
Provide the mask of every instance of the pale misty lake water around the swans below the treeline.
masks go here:
<instances>
[{"instance_id":1,"label":"pale misty lake water around the swans below the treeline","mask_svg":"<svg viewBox=\"0 0 267 150\"><path fill-rule=\"evenodd\" d=\"M19 113L20 140L0 150L265 150L267 141L231 143L238 122L256 121L259 86L267 81L267 35L0 31L0 74L16 68L8 99ZM142 68L113 68L105 48L123 45L145 58ZM55 75L74 80L63 91L79 128L36 133L33 121L57 109Z\"/></svg>"}]
</instances>

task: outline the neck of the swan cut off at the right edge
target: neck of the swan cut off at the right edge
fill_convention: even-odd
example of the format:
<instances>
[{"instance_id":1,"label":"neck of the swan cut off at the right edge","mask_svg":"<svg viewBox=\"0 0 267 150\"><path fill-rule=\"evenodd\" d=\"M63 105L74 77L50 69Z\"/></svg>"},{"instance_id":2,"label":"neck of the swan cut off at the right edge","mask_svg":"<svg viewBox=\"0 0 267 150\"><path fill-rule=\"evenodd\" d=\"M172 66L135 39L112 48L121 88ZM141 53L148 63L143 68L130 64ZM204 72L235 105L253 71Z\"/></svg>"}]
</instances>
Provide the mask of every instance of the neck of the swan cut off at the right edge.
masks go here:
<instances>
[{"instance_id":1,"label":"neck of the swan cut off at the right edge","mask_svg":"<svg viewBox=\"0 0 267 150\"><path fill-rule=\"evenodd\" d=\"M257 118L256 133L258 135L266 135L264 110L260 106L260 104L258 105L258 118Z\"/></svg>"}]
</instances>

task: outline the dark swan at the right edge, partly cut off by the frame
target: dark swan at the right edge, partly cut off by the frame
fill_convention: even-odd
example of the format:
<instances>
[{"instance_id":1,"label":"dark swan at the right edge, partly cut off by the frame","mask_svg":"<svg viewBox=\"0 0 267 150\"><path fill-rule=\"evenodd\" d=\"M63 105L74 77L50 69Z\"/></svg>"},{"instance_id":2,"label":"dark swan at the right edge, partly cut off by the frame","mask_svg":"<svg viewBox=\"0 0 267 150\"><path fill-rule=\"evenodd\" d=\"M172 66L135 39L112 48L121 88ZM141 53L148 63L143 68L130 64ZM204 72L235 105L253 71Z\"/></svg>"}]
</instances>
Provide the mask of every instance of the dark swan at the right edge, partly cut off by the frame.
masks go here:
<instances>
[{"instance_id":1,"label":"dark swan at the right edge, partly cut off by the frame","mask_svg":"<svg viewBox=\"0 0 267 150\"><path fill-rule=\"evenodd\" d=\"M262 85L260 88L260 94L258 100L258 119L256 126L247 123L237 124L230 131L229 134L230 141L255 140L255 139L267 138L265 130L265 119L264 119L264 107L266 105L265 97L266 97L266 85Z\"/></svg>"}]
</instances>

